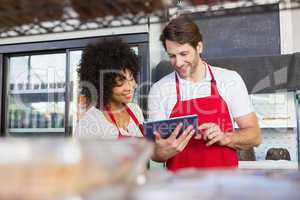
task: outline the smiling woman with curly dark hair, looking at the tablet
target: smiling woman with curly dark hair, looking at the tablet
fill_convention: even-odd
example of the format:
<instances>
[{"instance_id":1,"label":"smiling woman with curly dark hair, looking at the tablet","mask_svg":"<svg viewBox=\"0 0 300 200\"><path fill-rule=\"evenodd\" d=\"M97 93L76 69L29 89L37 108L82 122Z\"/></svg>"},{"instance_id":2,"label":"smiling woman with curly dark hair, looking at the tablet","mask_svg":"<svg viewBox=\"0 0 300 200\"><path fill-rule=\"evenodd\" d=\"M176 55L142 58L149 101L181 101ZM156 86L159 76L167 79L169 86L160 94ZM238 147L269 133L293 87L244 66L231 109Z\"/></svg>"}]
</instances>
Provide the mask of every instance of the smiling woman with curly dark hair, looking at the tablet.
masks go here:
<instances>
[{"instance_id":1,"label":"smiling woman with curly dark hair, looking at the tablet","mask_svg":"<svg viewBox=\"0 0 300 200\"><path fill-rule=\"evenodd\" d=\"M78 73L88 108L77 124L75 136L143 136L142 111L131 103L138 71L136 54L120 39L102 40L85 48Z\"/></svg>"}]
</instances>

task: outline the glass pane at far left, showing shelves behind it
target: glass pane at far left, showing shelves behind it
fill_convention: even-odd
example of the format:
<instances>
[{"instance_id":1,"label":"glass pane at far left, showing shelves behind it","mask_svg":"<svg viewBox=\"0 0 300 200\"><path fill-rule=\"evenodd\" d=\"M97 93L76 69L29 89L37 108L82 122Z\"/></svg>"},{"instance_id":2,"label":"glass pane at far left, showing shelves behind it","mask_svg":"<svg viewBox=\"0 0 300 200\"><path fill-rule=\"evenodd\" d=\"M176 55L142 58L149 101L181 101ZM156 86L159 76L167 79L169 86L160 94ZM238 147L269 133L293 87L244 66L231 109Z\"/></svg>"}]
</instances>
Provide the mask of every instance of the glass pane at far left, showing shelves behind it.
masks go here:
<instances>
[{"instance_id":1,"label":"glass pane at far left, showing shelves behind it","mask_svg":"<svg viewBox=\"0 0 300 200\"><path fill-rule=\"evenodd\" d=\"M10 57L10 135L64 132L65 69L65 53Z\"/></svg>"}]
</instances>

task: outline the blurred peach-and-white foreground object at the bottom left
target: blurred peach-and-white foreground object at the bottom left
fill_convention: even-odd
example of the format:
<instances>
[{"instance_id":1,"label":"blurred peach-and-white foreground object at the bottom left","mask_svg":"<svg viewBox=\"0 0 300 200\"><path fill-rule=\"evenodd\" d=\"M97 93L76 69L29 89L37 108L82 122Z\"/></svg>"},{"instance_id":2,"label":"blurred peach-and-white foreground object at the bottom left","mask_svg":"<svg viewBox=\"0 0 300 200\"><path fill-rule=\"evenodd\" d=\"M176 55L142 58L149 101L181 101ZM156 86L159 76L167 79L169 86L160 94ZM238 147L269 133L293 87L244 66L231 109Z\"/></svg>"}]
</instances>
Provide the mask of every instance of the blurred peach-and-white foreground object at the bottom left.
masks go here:
<instances>
[{"instance_id":1,"label":"blurred peach-and-white foreground object at the bottom left","mask_svg":"<svg viewBox=\"0 0 300 200\"><path fill-rule=\"evenodd\" d=\"M81 196L130 187L152 153L140 140L0 140L0 199Z\"/></svg>"}]
</instances>

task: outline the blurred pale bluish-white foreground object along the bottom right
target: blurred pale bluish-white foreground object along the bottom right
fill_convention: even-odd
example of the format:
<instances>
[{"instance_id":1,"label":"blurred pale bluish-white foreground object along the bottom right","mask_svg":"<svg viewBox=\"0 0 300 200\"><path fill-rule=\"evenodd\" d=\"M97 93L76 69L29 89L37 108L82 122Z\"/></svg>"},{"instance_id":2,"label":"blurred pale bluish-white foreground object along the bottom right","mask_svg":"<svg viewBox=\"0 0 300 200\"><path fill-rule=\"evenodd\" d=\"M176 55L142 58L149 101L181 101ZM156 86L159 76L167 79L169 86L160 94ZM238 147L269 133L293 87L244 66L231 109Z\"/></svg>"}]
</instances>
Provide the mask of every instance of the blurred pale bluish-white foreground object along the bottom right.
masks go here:
<instances>
[{"instance_id":1,"label":"blurred pale bluish-white foreground object along the bottom right","mask_svg":"<svg viewBox=\"0 0 300 200\"><path fill-rule=\"evenodd\" d=\"M298 170L182 170L156 172L134 200L298 200Z\"/></svg>"}]
</instances>

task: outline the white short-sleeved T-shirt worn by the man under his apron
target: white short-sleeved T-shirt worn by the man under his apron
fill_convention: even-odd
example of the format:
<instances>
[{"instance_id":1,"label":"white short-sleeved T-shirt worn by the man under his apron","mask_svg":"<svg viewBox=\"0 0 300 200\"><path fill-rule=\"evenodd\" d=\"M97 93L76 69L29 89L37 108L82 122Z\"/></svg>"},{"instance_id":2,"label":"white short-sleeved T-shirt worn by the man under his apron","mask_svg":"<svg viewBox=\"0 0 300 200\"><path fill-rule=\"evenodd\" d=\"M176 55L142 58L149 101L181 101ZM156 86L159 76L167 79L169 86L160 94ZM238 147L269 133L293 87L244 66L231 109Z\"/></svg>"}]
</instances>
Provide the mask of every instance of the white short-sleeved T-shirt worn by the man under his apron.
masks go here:
<instances>
[{"instance_id":1,"label":"white short-sleeved T-shirt worn by the man under his apron","mask_svg":"<svg viewBox=\"0 0 300 200\"><path fill-rule=\"evenodd\" d=\"M207 65L205 66L205 78L197 83L179 78L181 100L211 95L211 76ZM211 67L211 70L219 94L228 106L231 119L253 112L248 91L241 76L235 71L223 68ZM175 72L172 72L154 83L150 89L148 96L149 120L169 118L176 101Z\"/></svg>"}]
</instances>

